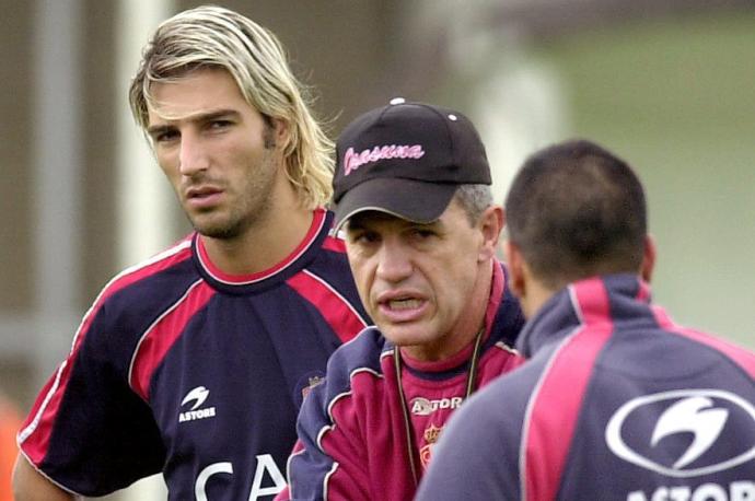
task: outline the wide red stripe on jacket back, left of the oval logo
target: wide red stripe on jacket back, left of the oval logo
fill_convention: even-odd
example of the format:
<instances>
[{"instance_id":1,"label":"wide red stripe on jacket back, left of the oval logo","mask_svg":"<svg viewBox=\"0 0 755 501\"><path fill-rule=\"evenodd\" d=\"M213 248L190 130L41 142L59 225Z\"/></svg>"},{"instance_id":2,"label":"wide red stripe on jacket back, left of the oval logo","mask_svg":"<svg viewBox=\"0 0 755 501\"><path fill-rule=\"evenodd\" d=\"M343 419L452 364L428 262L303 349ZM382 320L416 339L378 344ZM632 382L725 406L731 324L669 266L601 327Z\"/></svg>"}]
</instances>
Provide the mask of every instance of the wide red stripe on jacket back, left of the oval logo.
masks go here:
<instances>
[{"instance_id":1,"label":"wide red stripe on jacket back, left of the oval logo","mask_svg":"<svg viewBox=\"0 0 755 501\"><path fill-rule=\"evenodd\" d=\"M527 405L520 453L522 499L556 499L592 368L613 330L608 294L600 279L569 288L582 325L551 356ZM591 304L584 310L585 301Z\"/></svg>"}]
</instances>

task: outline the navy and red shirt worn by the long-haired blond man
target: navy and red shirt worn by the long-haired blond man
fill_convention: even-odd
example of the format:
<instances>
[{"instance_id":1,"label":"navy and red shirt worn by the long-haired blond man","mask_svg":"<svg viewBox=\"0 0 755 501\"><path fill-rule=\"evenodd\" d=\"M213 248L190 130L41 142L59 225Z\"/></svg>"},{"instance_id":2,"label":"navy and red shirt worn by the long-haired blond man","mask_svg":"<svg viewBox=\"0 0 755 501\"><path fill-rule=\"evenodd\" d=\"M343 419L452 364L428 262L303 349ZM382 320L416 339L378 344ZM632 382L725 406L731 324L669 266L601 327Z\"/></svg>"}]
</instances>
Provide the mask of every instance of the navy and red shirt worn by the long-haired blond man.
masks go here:
<instances>
[{"instance_id":1,"label":"navy and red shirt worn by the long-haired blond man","mask_svg":"<svg viewBox=\"0 0 755 501\"><path fill-rule=\"evenodd\" d=\"M272 499L329 354L367 325L333 214L259 273L229 276L196 234L115 277L19 433L63 489L163 473L171 500Z\"/></svg>"}]
</instances>

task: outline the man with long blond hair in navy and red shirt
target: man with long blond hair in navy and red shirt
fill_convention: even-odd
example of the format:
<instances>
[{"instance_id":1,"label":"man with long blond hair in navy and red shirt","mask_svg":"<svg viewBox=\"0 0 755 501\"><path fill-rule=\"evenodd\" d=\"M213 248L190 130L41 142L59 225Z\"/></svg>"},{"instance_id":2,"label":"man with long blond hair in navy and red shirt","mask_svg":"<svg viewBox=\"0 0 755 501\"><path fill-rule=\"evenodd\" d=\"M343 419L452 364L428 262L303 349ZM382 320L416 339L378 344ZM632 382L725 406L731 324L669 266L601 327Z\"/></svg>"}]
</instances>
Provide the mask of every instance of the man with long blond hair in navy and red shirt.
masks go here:
<instances>
[{"instance_id":1,"label":"man with long blond hair in navy and red shirt","mask_svg":"<svg viewBox=\"0 0 755 501\"><path fill-rule=\"evenodd\" d=\"M271 499L330 352L368 323L330 234L333 143L280 43L218 7L147 45L129 100L195 231L116 276L19 433L16 499L163 473L171 500Z\"/></svg>"}]
</instances>

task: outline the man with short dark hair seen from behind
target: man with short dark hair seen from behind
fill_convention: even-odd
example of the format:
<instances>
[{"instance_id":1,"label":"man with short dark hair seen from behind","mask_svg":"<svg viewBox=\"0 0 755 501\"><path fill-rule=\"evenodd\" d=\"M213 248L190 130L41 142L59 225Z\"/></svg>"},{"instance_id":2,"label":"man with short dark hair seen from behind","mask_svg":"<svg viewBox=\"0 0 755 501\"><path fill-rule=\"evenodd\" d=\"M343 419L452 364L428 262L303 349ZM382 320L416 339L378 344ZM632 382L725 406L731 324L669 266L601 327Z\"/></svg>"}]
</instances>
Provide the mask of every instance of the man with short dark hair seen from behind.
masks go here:
<instances>
[{"instance_id":1,"label":"man with short dark hair seen from behind","mask_svg":"<svg viewBox=\"0 0 755 501\"><path fill-rule=\"evenodd\" d=\"M755 499L755 354L651 302L629 165L588 141L547 148L506 213L528 361L454 416L417 499Z\"/></svg>"}]
</instances>

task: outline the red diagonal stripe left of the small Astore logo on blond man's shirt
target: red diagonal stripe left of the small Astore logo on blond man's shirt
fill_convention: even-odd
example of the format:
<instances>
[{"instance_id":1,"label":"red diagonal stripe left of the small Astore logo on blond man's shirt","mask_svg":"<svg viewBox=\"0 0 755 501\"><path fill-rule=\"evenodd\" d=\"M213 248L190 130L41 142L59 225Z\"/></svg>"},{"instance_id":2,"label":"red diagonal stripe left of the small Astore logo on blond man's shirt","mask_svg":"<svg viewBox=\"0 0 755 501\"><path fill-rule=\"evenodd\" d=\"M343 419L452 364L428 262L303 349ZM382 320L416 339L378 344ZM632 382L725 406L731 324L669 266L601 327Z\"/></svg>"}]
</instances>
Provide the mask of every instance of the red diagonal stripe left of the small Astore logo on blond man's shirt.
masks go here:
<instances>
[{"instance_id":1,"label":"red diagonal stripe left of the small Astore logo on blond man's shirt","mask_svg":"<svg viewBox=\"0 0 755 501\"><path fill-rule=\"evenodd\" d=\"M141 398L149 399L152 373L181 337L186 324L214 294L216 291L207 282L197 280L141 336L128 371L128 382Z\"/></svg>"}]
</instances>

